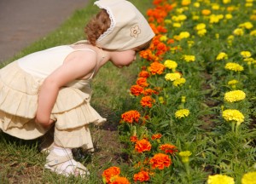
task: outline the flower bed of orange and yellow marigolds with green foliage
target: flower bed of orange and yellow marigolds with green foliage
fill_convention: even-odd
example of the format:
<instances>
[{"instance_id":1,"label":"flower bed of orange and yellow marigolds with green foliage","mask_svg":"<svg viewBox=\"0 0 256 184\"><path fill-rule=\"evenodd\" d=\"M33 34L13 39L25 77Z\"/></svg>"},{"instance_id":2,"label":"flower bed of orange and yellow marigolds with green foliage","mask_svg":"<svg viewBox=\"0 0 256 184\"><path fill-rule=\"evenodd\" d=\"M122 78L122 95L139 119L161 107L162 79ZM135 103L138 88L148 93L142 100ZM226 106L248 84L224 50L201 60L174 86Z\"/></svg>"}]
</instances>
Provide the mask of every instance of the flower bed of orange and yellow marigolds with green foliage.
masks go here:
<instances>
[{"instance_id":1,"label":"flower bed of orange and yellow marigolds with green foliage","mask_svg":"<svg viewBox=\"0 0 256 184\"><path fill-rule=\"evenodd\" d=\"M103 181L255 183L255 4L170 2L148 9L156 36L119 125L128 164Z\"/></svg>"}]
</instances>

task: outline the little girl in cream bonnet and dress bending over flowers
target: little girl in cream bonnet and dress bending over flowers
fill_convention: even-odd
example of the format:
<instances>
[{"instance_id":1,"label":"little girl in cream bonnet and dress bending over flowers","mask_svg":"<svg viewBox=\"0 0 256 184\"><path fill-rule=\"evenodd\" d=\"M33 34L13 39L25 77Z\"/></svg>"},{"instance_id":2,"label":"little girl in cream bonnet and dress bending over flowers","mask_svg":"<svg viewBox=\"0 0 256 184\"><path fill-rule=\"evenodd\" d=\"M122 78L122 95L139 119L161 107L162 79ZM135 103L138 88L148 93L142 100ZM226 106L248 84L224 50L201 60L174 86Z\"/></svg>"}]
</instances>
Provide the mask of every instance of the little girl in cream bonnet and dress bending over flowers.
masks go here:
<instances>
[{"instance_id":1,"label":"little girl in cream bonnet and dress bending over flowers","mask_svg":"<svg viewBox=\"0 0 256 184\"><path fill-rule=\"evenodd\" d=\"M89 124L106 121L90 106L90 80L108 61L129 66L154 37L128 1L95 4L101 11L85 26L87 41L26 55L0 70L0 129L32 140L54 126L45 168L62 175L89 174L71 149L93 149Z\"/></svg>"}]
</instances>

